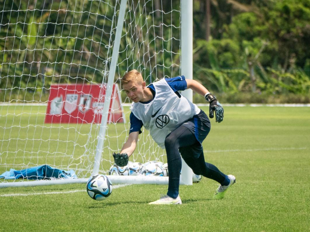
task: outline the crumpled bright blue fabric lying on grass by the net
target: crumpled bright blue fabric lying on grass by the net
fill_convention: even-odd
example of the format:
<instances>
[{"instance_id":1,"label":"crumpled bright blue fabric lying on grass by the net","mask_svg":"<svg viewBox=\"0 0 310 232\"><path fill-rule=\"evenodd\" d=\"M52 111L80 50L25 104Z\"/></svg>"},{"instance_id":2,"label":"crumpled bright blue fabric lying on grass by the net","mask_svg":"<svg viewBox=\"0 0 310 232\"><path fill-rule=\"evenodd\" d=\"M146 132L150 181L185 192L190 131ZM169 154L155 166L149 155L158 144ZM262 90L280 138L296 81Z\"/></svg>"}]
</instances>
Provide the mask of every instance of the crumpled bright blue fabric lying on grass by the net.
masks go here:
<instances>
[{"instance_id":1,"label":"crumpled bright blue fabric lying on grass by the net","mask_svg":"<svg viewBox=\"0 0 310 232\"><path fill-rule=\"evenodd\" d=\"M77 178L73 170L64 171L56 168L52 168L49 165L41 165L37 167L31 167L23 170L14 170L4 172L0 175L0 178L4 179L28 179L28 180L42 180L42 179L59 179L59 178Z\"/></svg>"}]
</instances>

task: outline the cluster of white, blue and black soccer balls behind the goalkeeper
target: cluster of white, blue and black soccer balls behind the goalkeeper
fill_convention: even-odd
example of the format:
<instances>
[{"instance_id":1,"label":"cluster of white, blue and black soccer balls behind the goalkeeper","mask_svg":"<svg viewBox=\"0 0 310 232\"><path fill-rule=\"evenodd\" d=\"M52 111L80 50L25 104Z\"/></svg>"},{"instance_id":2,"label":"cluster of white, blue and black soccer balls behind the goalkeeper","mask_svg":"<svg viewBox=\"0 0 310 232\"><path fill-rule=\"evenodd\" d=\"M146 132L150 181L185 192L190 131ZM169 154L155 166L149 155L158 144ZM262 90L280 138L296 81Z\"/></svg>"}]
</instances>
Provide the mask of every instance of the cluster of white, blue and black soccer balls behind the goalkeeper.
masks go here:
<instances>
[{"instance_id":1,"label":"cluster of white, blue and black soccer balls behind the goalkeeper","mask_svg":"<svg viewBox=\"0 0 310 232\"><path fill-rule=\"evenodd\" d=\"M119 167L116 164L112 165L109 170L109 175L153 175L153 176L168 176L168 165L158 161L149 161L144 164L139 162L128 162L124 167ZM201 175L193 174L193 182L199 182Z\"/></svg>"}]
</instances>

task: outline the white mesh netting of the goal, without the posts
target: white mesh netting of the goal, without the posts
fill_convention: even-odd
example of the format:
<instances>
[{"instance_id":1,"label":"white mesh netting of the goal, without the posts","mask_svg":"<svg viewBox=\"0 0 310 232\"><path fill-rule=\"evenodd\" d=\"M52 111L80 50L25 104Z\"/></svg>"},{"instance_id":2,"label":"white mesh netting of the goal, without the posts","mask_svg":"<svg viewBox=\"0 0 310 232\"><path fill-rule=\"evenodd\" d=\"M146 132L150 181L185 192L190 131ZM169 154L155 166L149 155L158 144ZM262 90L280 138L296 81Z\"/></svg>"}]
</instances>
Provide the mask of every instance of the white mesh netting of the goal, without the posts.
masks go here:
<instances>
[{"instance_id":1,"label":"white mesh netting of the goal, without the posts","mask_svg":"<svg viewBox=\"0 0 310 232\"><path fill-rule=\"evenodd\" d=\"M100 125L44 118L51 85L107 82L120 1L0 2L0 174L47 164L88 177ZM179 63L180 2L128 1L115 83L131 69L147 84L174 77ZM126 123L108 124L101 173L128 136L129 107L124 111ZM143 131L131 161L150 160L165 162L164 151Z\"/></svg>"}]
</instances>

